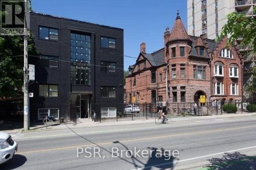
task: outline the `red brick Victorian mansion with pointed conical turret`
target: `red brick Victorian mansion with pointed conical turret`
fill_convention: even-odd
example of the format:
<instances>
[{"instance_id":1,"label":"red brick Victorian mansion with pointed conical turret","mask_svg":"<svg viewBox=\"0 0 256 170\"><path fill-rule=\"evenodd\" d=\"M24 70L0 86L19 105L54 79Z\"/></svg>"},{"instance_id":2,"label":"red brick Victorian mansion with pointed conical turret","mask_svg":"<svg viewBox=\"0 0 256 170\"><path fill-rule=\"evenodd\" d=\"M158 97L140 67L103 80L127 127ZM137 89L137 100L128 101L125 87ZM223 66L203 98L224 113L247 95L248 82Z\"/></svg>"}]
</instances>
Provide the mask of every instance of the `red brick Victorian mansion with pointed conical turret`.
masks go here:
<instances>
[{"instance_id":1,"label":"red brick Victorian mansion with pointed conical turret","mask_svg":"<svg viewBox=\"0 0 256 170\"><path fill-rule=\"evenodd\" d=\"M188 36L177 16L172 31L167 28L164 33L164 48L147 54L145 43L141 44L141 53L126 77L126 102L167 102L170 109L177 103L198 102L200 95L207 102L241 102L243 60L238 47L226 48L226 41Z\"/></svg>"}]
</instances>

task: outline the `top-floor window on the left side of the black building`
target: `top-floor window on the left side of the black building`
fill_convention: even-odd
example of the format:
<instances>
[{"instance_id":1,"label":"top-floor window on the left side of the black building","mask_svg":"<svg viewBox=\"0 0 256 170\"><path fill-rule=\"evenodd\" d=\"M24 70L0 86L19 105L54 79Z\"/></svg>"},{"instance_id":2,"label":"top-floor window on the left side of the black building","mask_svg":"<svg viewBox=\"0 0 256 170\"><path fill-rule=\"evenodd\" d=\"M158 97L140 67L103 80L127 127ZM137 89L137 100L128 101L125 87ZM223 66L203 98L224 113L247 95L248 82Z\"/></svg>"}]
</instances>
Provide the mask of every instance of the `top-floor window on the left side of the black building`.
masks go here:
<instances>
[{"instance_id":1,"label":"top-floor window on the left side of the black building","mask_svg":"<svg viewBox=\"0 0 256 170\"><path fill-rule=\"evenodd\" d=\"M39 38L46 40L58 40L58 30L47 27L39 27Z\"/></svg>"}]
</instances>

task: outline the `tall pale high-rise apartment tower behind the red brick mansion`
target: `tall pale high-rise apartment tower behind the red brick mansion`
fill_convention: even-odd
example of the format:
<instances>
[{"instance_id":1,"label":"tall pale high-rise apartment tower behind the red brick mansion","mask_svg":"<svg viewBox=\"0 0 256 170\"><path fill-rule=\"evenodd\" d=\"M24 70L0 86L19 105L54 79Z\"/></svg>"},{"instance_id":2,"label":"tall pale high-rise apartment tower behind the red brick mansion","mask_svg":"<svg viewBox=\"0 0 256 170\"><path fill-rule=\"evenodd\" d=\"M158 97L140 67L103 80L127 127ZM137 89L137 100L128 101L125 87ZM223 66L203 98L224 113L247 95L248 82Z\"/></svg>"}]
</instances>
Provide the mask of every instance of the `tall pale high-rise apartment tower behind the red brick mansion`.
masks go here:
<instances>
[{"instance_id":1,"label":"tall pale high-rise apartment tower behind the red brick mansion","mask_svg":"<svg viewBox=\"0 0 256 170\"><path fill-rule=\"evenodd\" d=\"M256 13L252 12L255 5L256 0L187 0L188 34L193 36L205 34L207 38L215 39L227 22L227 14L238 12L246 17L256 17ZM238 44L241 40L242 37L238 39ZM252 81L256 56L246 55L248 51L246 46L240 45L239 48L244 57L243 84L245 88ZM244 95L245 99L252 97L246 92ZM253 98L256 99L255 94Z\"/></svg>"}]
</instances>

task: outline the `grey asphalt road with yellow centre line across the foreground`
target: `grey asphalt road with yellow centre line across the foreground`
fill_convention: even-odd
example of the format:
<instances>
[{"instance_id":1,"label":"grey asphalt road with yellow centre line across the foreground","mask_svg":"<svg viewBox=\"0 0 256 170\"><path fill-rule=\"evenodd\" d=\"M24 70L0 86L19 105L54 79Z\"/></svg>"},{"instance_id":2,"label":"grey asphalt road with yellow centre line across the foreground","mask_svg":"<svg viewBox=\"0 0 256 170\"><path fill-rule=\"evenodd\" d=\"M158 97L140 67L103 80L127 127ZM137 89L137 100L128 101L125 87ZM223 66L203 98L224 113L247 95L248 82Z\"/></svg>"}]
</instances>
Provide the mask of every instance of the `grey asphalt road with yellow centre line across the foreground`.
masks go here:
<instances>
[{"instance_id":1,"label":"grey asphalt road with yellow centre line across the foreground","mask_svg":"<svg viewBox=\"0 0 256 170\"><path fill-rule=\"evenodd\" d=\"M18 152L0 169L200 169L225 155L231 161L256 155L256 116L142 126L17 139ZM249 163L256 169L255 162Z\"/></svg>"}]
</instances>

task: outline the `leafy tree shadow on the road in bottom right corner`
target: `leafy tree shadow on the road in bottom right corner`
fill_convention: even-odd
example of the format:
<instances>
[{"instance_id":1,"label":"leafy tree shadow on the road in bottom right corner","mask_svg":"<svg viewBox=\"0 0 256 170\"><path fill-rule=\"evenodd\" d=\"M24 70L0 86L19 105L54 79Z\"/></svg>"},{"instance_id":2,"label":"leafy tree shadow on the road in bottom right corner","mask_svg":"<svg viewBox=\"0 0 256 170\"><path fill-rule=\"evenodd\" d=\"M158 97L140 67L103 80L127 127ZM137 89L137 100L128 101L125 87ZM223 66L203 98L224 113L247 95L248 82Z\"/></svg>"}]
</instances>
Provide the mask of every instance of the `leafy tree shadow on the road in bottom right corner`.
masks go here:
<instances>
[{"instance_id":1,"label":"leafy tree shadow on the road in bottom right corner","mask_svg":"<svg viewBox=\"0 0 256 170\"><path fill-rule=\"evenodd\" d=\"M222 158L209 159L210 165L207 170L233 170L233 169L256 169L256 156L247 156L239 152L226 153Z\"/></svg>"}]
</instances>

